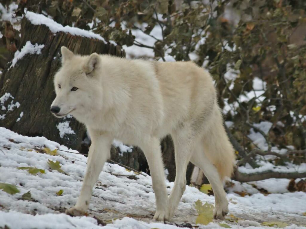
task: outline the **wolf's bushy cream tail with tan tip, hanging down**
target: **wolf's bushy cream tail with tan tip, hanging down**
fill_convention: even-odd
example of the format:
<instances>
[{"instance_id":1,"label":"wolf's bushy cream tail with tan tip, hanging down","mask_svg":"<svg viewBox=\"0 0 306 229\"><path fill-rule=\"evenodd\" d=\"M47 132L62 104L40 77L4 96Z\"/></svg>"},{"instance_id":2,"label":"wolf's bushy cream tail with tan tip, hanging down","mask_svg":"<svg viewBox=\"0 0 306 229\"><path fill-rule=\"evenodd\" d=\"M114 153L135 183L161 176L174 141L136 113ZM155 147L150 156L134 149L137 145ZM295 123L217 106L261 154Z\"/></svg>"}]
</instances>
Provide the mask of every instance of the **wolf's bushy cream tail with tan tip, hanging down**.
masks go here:
<instances>
[{"instance_id":1,"label":"wolf's bushy cream tail with tan tip, hanging down","mask_svg":"<svg viewBox=\"0 0 306 229\"><path fill-rule=\"evenodd\" d=\"M231 177L235 165L235 151L223 126L223 118L218 104L208 122L203 136L204 153L218 169L221 180Z\"/></svg>"}]
</instances>

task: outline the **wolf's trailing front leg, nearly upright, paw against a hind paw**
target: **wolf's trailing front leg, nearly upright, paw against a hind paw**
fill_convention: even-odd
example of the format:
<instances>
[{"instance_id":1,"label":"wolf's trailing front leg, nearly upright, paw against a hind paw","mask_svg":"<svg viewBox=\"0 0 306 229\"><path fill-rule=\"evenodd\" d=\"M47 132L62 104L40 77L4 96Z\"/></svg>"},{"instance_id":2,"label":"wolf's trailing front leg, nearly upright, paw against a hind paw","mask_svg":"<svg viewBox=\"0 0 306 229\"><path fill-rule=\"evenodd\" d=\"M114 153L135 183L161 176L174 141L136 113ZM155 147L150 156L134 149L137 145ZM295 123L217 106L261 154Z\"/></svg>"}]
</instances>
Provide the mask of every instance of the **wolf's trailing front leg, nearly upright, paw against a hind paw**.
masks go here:
<instances>
[{"instance_id":1,"label":"wolf's trailing front leg, nearly upright, paw against a hind paw","mask_svg":"<svg viewBox=\"0 0 306 229\"><path fill-rule=\"evenodd\" d=\"M152 187L155 192L156 213L154 219L159 221L168 220L168 196L160 141L156 137L146 138L146 140L143 140L140 148L144 151L144 155L147 158L152 178Z\"/></svg>"}]
</instances>

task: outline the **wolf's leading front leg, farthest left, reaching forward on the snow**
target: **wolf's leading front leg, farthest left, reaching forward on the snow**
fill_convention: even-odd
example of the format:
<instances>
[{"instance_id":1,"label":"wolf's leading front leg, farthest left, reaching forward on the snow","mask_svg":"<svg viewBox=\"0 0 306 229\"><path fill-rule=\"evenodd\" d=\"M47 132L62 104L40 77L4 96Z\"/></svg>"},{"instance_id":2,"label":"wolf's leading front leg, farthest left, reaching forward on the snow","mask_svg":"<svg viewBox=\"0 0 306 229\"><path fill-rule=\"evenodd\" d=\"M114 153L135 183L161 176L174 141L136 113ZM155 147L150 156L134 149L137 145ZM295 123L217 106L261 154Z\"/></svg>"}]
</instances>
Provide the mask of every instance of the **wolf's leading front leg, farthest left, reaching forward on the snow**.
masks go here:
<instances>
[{"instance_id":1,"label":"wolf's leading front leg, farthest left, reaching forward on the snow","mask_svg":"<svg viewBox=\"0 0 306 229\"><path fill-rule=\"evenodd\" d=\"M105 135L91 134L91 146L88 152L86 174L80 196L74 207L66 210L71 216L84 215L89 207L92 188L98 180L103 165L110 156L111 138Z\"/></svg>"}]
</instances>

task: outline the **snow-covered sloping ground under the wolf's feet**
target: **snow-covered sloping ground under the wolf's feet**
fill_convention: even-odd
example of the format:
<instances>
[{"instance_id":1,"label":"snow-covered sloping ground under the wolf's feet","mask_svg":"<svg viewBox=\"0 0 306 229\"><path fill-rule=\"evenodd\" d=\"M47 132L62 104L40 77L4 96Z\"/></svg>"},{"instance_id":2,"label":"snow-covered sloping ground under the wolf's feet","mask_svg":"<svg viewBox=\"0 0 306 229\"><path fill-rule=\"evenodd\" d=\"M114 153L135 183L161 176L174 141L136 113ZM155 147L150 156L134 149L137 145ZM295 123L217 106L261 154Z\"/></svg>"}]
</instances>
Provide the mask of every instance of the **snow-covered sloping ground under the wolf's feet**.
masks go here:
<instances>
[{"instance_id":1,"label":"snow-covered sloping ground under the wolf's feet","mask_svg":"<svg viewBox=\"0 0 306 229\"><path fill-rule=\"evenodd\" d=\"M43 148L57 151L58 155L50 155ZM51 170L48 160L58 161L62 173ZM65 215L65 209L76 202L86 169L87 158L77 151L68 149L44 137L21 136L0 127L0 183L16 185L19 193L8 194L0 190L0 228L102 228L99 220L107 223L103 228L178 228L174 223L188 222L195 225L197 212L194 202L214 204L213 196L200 192L195 187L186 187L172 224L155 222L155 196L151 187L151 177L135 174L125 168L109 164L103 168L99 180L92 193L88 216L71 217ZM45 173L30 174L18 167L36 167ZM200 228L219 228L228 224L232 228L268 228L260 223L265 221L285 222L286 228L306 228L306 193L286 192L288 180L270 179L256 185L268 191L274 187L278 192L264 195L251 184L235 182L232 191L248 190L254 193L244 197L230 192L227 220L217 221L200 226ZM260 186L261 185L261 186ZM167 182L168 194L173 183ZM278 188L276 188L278 187ZM254 190L253 190L254 189ZM61 195L57 192L63 190ZM21 199L30 191L30 200ZM233 221L234 222L231 222ZM170 222L169 222L170 223Z\"/></svg>"}]
</instances>

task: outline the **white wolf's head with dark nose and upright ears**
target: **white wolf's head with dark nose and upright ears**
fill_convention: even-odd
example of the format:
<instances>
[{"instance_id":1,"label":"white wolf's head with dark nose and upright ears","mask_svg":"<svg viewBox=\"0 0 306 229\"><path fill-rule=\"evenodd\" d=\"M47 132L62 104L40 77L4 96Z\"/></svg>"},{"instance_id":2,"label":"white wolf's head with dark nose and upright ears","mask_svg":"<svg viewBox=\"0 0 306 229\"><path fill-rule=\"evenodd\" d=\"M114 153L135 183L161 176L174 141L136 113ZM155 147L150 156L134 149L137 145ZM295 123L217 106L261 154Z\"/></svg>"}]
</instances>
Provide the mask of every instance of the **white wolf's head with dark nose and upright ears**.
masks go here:
<instances>
[{"instance_id":1,"label":"white wolf's head with dark nose and upright ears","mask_svg":"<svg viewBox=\"0 0 306 229\"><path fill-rule=\"evenodd\" d=\"M61 52L62 67L54 76L56 97L50 111L58 118L68 114L84 116L99 106L97 98L102 98L101 77L98 77L101 57L97 53L74 55L64 46Z\"/></svg>"}]
</instances>

